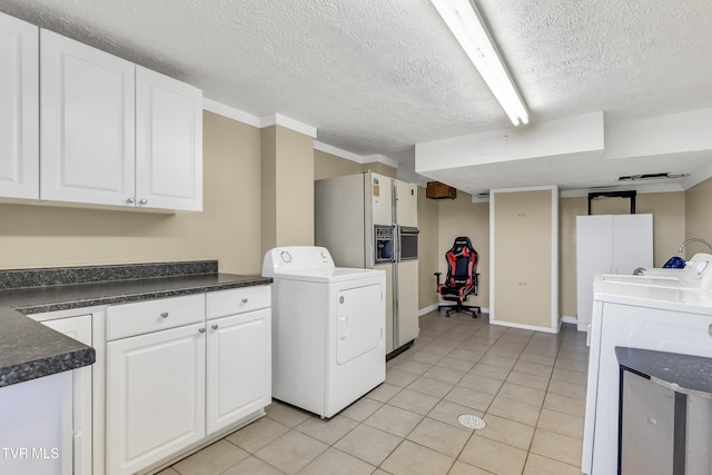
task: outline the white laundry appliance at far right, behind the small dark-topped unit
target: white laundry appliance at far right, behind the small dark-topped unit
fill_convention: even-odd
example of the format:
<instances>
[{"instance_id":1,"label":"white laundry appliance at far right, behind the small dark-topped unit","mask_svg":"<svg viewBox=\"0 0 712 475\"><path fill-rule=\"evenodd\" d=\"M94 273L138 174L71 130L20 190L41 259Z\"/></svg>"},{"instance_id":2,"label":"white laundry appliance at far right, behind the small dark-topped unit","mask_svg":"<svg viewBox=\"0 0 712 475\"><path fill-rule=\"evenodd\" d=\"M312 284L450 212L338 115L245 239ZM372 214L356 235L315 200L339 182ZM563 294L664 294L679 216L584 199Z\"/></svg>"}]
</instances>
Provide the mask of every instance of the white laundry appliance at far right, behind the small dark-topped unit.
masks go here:
<instances>
[{"instance_id":1,"label":"white laundry appliance at far right, behind the small dark-topped unit","mask_svg":"<svg viewBox=\"0 0 712 475\"><path fill-rule=\"evenodd\" d=\"M615 347L712 357L712 256L680 278L600 275L594 280L582 472L617 473L620 373ZM709 447L700 447L710 451ZM712 453L691 461L711 473Z\"/></svg>"}]
</instances>

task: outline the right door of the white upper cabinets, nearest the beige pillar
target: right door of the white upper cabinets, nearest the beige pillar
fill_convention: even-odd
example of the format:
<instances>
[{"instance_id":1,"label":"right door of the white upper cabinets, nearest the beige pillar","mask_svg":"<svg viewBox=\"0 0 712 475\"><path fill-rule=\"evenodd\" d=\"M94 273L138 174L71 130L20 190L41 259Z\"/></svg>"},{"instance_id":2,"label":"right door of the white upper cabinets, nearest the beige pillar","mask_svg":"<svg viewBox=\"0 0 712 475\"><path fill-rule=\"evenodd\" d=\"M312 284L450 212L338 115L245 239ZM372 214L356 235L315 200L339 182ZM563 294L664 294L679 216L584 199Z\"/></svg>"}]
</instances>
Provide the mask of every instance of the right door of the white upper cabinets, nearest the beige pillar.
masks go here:
<instances>
[{"instance_id":1,"label":"right door of the white upper cabinets, nearest the beige pillar","mask_svg":"<svg viewBox=\"0 0 712 475\"><path fill-rule=\"evenodd\" d=\"M136 199L202 210L202 92L136 67Z\"/></svg>"}]
</instances>

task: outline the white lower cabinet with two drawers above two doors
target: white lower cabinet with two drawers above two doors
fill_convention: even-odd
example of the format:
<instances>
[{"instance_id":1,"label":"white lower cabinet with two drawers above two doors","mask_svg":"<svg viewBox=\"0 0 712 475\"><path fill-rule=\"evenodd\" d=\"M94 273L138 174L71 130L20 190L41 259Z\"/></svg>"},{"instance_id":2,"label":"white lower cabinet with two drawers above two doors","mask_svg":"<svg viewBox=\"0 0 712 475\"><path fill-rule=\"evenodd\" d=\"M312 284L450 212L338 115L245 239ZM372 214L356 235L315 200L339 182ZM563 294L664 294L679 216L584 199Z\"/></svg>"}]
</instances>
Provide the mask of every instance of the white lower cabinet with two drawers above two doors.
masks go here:
<instances>
[{"instance_id":1,"label":"white lower cabinet with two drawers above two doors","mask_svg":"<svg viewBox=\"0 0 712 475\"><path fill-rule=\"evenodd\" d=\"M271 289L107 309L106 472L152 469L271 402Z\"/></svg>"}]
</instances>

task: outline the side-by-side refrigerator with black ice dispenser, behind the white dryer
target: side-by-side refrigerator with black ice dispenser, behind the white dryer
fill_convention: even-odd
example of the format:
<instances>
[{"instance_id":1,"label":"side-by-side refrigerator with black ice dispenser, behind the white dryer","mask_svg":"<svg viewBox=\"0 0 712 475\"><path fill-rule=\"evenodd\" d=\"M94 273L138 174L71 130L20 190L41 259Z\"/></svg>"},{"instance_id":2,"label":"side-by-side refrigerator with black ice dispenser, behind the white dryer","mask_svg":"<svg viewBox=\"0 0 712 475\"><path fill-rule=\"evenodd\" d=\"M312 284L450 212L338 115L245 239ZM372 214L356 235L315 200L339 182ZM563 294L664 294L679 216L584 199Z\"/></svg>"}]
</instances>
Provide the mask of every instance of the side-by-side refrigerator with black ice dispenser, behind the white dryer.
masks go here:
<instances>
[{"instance_id":1,"label":"side-by-side refrigerator with black ice dispenser, behind the white dryer","mask_svg":"<svg viewBox=\"0 0 712 475\"><path fill-rule=\"evenodd\" d=\"M418 336L417 186L367 171L315 181L316 245L339 267L386 271L386 353Z\"/></svg>"}]
</instances>

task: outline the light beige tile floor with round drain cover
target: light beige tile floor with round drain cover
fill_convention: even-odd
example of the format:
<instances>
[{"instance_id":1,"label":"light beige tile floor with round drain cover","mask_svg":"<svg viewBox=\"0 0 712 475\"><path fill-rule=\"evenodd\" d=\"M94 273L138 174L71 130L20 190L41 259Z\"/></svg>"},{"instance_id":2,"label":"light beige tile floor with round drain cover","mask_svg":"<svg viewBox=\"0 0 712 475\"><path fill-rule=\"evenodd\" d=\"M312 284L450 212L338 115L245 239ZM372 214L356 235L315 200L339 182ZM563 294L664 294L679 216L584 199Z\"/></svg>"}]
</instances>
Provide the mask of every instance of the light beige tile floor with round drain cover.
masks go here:
<instances>
[{"instance_id":1,"label":"light beige tile floor with round drain cover","mask_svg":"<svg viewBox=\"0 0 712 475\"><path fill-rule=\"evenodd\" d=\"M587 362L573 325L551 335L433 311L386 382L335 417L275 402L160 475L580 475Z\"/></svg>"}]
</instances>

